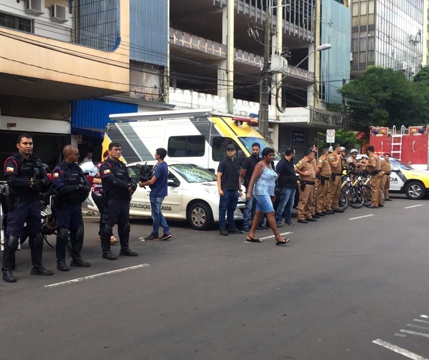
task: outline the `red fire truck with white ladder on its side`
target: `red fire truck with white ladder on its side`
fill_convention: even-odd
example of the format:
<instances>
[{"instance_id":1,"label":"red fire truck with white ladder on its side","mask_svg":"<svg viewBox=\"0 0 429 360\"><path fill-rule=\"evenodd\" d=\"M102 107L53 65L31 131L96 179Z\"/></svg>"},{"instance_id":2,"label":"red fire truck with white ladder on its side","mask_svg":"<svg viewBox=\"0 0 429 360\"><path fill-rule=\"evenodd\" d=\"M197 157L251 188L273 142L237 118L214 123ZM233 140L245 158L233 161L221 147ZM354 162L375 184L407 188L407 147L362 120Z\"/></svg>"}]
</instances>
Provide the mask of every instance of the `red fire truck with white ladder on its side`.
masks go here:
<instances>
[{"instance_id":1,"label":"red fire truck with white ladder on its side","mask_svg":"<svg viewBox=\"0 0 429 360\"><path fill-rule=\"evenodd\" d=\"M427 170L429 165L429 126L401 126L400 130L373 127L369 144L377 153L389 153L390 156L410 164L413 169Z\"/></svg>"}]
</instances>

